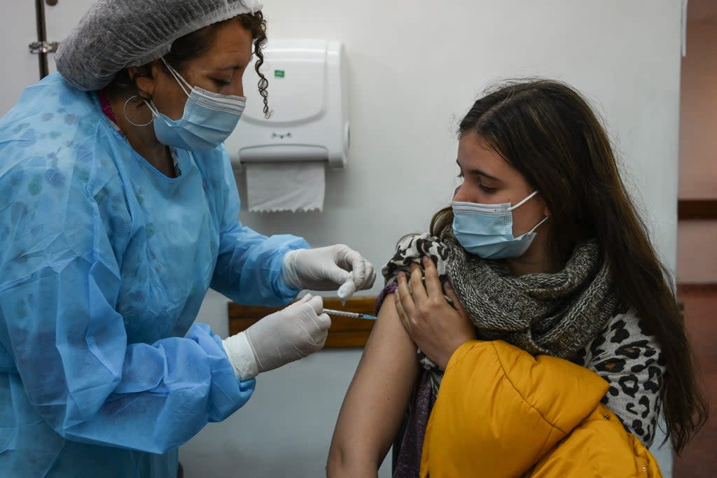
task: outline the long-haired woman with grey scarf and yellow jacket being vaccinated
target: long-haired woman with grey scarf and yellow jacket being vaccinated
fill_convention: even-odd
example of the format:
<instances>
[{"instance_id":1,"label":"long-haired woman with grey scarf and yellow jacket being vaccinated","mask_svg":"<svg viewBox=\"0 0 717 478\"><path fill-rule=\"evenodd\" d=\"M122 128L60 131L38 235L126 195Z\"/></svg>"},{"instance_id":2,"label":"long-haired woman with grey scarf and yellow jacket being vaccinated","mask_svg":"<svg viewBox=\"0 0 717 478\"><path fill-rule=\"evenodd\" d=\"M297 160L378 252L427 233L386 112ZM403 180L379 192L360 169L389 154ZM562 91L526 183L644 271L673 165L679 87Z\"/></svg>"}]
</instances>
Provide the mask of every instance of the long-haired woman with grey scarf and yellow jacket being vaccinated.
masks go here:
<instances>
[{"instance_id":1,"label":"long-haired woman with grey scarf and yellow jacket being vaccinated","mask_svg":"<svg viewBox=\"0 0 717 478\"><path fill-rule=\"evenodd\" d=\"M706 420L670 275L602 125L510 82L460 123L462 185L383 269L330 477L659 476ZM579 470L579 471L578 471Z\"/></svg>"}]
</instances>

